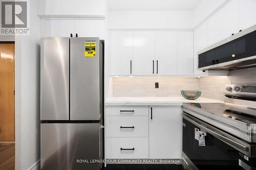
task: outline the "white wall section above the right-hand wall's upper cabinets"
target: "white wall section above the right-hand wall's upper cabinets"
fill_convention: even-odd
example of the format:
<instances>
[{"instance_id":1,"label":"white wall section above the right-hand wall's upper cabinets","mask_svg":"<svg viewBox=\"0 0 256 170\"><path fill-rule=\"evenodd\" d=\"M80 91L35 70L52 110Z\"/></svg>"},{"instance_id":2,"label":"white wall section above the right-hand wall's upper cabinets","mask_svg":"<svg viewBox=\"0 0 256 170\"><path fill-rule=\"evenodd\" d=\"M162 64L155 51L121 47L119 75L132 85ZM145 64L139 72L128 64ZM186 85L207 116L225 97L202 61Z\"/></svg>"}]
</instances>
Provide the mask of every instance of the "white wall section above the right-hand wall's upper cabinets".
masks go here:
<instances>
[{"instance_id":1,"label":"white wall section above the right-hand wall's upper cabinets","mask_svg":"<svg viewBox=\"0 0 256 170\"><path fill-rule=\"evenodd\" d=\"M207 17L216 12L230 0L202 0L193 10L193 28L198 26Z\"/></svg>"}]
</instances>

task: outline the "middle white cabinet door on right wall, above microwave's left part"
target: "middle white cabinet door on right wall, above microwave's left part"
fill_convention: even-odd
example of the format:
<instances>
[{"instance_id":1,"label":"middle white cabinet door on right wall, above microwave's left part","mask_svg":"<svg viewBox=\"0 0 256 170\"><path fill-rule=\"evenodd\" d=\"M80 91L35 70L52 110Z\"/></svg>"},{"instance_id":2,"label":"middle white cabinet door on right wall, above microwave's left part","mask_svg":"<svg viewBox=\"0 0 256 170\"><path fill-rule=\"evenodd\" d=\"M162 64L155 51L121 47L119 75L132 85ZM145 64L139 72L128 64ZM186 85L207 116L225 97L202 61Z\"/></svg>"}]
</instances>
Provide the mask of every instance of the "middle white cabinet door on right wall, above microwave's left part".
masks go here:
<instances>
[{"instance_id":1,"label":"middle white cabinet door on right wall, above microwave's left part","mask_svg":"<svg viewBox=\"0 0 256 170\"><path fill-rule=\"evenodd\" d=\"M208 45L238 32L238 0L233 0L208 20Z\"/></svg>"}]
</instances>

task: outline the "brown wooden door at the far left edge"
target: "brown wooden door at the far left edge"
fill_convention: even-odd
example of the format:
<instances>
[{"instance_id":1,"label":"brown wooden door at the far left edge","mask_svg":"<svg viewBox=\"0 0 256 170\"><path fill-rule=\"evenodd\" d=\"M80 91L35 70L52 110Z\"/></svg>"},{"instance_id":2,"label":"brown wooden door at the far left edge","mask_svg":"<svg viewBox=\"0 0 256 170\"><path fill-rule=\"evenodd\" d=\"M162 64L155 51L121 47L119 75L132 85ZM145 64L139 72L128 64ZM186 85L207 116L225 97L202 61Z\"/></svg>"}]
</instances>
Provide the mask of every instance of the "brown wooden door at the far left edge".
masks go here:
<instances>
[{"instance_id":1,"label":"brown wooden door at the far left edge","mask_svg":"<svg viewBox=\"0 0 256 170\"><path fill-rule=\"evenodd\" d=\"M1 42L0 141L14 141L14 43Z\"/></svg>"}]
</instances>

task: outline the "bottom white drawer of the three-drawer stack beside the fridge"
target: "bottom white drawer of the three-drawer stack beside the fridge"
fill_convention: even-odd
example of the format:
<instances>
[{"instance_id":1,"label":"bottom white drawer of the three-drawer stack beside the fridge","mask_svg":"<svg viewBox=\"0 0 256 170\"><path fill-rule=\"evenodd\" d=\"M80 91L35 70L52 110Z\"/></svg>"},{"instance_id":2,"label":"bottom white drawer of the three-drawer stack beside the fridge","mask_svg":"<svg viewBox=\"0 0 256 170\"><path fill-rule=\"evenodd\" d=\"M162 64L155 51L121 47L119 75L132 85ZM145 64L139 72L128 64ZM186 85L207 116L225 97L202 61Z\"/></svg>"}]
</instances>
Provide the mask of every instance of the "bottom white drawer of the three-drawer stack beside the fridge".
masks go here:
<instances>
[{"instance_id":1,"label":"bottom white drawer of the three-drawer stack beside the fridge","mask_svg":"<svg viewBox=\"0 0 256 170\"><path fill-rule=\"evenodd\" d=\"M148 138L106 138L106 159L148 159Z\"/></svg>"}]
</instances>

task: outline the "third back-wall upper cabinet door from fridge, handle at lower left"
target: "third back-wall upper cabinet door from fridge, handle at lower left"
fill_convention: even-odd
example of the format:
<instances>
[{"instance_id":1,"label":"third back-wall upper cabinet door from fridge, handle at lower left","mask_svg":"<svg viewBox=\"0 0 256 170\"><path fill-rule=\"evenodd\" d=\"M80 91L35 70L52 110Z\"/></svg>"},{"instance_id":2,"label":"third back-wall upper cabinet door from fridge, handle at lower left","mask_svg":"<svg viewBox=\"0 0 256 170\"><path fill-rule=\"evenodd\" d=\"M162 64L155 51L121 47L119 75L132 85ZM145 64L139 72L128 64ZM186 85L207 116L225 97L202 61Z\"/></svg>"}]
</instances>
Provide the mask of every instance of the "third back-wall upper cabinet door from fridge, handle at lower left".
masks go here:
<instances>
[{"instance_id":1,"label":"third back-wall upper cabinet door from fridge, handle at lower left","mask_svg":"<svg viewBox=\"0 0 256 170\"><path fill-rule=\"evenodd\" d=\"M156 74L177 75L177 32L156 32Z\"/></svg>"}]
</instances>

